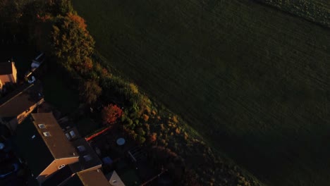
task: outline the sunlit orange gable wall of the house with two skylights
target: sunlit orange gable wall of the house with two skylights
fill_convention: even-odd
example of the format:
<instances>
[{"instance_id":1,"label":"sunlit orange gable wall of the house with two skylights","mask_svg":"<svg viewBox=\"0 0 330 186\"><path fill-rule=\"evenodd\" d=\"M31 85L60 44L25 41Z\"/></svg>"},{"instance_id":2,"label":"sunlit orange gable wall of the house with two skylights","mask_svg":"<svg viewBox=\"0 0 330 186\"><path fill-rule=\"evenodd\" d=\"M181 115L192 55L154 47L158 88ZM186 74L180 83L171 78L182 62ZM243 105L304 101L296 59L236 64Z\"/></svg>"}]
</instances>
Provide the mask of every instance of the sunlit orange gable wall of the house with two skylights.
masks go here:
<instances>
[{"instance_id":1,"label":"sunlit orange gable wall of the house with two skylights","mask_svg":"<svg viewBox=\"0 0 330 186\"><path fill-rule=\"evenodd\" d=\"M56 159L51 164L42 171L37 177L38 182L41 184L45 180L49 178L49 175L55 173L56 171L59 170L59 166L61 165L66 165L68 166L69 164L76 163L78 162L78 156L76 157L71 157L71 158L66 158L66 159Z\"/></svg>"}]
</instances>

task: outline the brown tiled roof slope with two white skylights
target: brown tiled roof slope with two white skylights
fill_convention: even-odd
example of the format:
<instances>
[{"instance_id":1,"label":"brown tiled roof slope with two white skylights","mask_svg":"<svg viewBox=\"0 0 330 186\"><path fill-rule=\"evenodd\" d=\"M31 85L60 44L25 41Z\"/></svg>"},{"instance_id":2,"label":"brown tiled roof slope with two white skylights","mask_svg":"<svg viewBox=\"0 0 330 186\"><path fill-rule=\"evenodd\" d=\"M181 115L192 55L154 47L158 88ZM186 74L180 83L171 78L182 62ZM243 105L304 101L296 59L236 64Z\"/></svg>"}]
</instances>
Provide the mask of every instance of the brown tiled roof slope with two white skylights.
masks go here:
<instances>
[{"instance_id":1,"label":"brown tiled roof slope with two white skylights","mask_svg":"<svg viewBox=\"0 0 330 186\"><path fill-rule=\"evenodd\" d=\"M42 136L55 159L79 156L52 113L32 113L31 115L35 128L37 128L39 135ZM39 128L38 124L44 124L45 128ZM49 132L50 136L44 136L44 132Z\"/></svg>"}]
</instances>

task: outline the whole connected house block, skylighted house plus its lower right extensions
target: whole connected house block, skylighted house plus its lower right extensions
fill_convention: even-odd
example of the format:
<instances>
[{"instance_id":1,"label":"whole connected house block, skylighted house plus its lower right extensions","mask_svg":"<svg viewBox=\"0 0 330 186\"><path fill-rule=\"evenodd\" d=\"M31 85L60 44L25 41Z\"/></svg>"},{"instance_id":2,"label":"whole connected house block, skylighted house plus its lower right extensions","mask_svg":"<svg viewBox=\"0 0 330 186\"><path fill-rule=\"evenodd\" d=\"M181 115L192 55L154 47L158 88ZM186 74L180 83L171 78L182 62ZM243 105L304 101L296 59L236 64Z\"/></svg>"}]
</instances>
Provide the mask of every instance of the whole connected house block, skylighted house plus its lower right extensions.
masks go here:
<instances>
[{"instance_id":1,"label":"whole connected house block, skylighted house plus its lower right extensions","mask_svg":"<svg viewBox=\"0 0 330 186\"><path fill-rule=\"evenodd\" d=\"M14 143L39 185L110 185L90 144L75 128L65 132L52 113L32 113Z\"/></svg>"}]
</instances>

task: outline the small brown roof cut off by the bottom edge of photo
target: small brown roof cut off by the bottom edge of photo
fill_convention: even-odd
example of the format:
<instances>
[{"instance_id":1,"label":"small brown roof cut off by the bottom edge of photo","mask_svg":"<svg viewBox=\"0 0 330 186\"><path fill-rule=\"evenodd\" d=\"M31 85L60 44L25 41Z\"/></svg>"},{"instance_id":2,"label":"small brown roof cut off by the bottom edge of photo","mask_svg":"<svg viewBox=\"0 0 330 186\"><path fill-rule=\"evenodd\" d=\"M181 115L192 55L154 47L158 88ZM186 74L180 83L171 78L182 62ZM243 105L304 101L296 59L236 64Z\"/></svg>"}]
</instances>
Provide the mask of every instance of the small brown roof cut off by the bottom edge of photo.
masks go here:
<instances>
[{"instance_id":1,"label":"small brown roof cut off by the bottom edge of photo","mask_svg":"<svg viewBox=\"0 0 330 186\"><path fill-rule=\"evenodd\" d=\"M77 173L83 185L110 186L101 170L82 171Z\"/></svg>"}]
</instances>

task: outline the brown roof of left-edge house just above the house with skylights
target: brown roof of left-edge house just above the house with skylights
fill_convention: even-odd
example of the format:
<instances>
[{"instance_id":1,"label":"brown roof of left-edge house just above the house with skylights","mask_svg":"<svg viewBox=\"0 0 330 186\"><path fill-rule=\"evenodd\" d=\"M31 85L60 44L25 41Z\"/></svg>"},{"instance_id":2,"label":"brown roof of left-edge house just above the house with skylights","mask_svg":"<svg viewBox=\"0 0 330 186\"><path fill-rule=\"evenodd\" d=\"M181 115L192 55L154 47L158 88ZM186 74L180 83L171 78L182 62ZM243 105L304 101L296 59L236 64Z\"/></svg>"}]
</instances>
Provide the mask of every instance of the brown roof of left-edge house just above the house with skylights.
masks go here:
<instances>
[{"instance_id":1,"label":"brown roof of left-edge house just above the house with skylights","mask_svg":"<svg viewBox=\"0 0 330 186\"><path fill-rule=\"evenodd\" d=\"M0 100L0 117L16 117L42 99L39 97L41 85L36 82L32 85L23 85L12 94Z\"/></svg>"}]
</instances>

